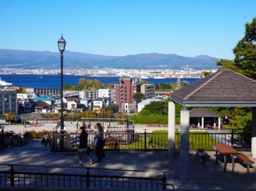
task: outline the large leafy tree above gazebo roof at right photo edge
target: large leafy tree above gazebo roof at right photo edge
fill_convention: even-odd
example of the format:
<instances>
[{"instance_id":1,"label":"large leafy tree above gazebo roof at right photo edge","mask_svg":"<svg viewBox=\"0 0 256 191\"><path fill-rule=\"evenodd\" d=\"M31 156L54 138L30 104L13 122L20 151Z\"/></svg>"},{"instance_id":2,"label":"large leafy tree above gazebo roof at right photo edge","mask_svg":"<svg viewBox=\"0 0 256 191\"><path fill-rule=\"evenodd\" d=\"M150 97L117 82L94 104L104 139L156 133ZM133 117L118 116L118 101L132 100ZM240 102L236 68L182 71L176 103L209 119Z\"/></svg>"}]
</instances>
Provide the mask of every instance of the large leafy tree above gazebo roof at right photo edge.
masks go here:
<instances>
[{"instance_id":1,"label":"large leafy tree above gazebo roof at right photo edge","mask_svg":"<svg viewBox=\"0 0 256 191\"><path fill-rule=\"evenodd\" d=\"M256 79L256 17L245 25L245 36L233 48L234 62L221 59L217 66L230 68L240 74ZM220 69L221 69L220 68Z\"/></svg>"}]
</instances>

